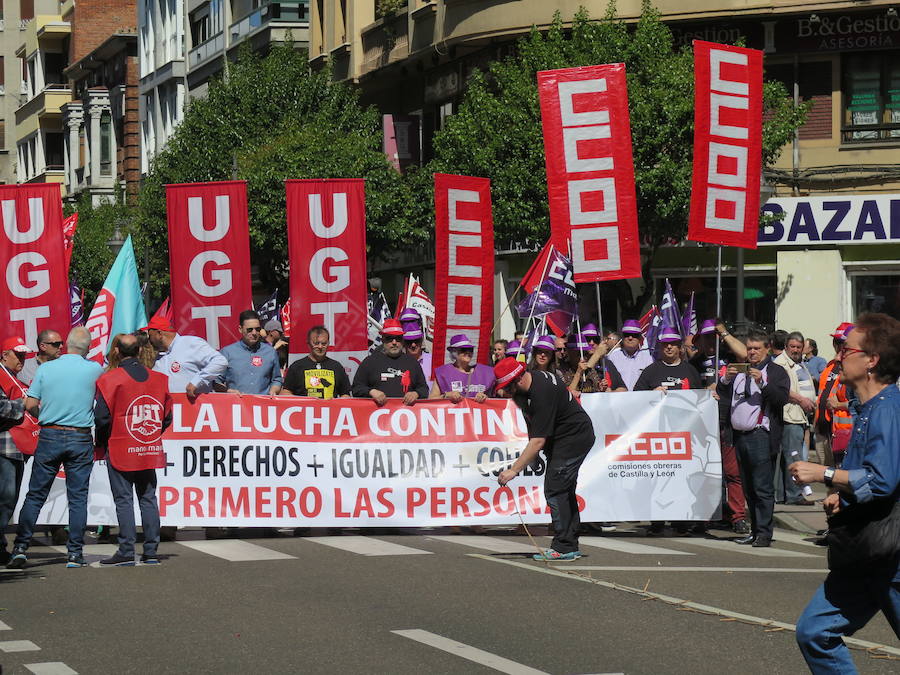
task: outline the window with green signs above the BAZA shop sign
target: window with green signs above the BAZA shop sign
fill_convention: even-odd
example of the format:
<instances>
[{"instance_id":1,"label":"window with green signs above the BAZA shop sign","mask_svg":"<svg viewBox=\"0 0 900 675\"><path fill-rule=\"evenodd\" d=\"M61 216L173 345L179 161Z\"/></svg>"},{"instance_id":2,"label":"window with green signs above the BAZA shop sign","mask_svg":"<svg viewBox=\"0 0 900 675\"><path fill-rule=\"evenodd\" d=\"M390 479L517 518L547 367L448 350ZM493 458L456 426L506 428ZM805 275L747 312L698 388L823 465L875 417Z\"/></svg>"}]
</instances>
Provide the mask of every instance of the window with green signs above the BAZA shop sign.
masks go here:
<instances>
[{"instance_id":1,"label":"window with green signs above the BAZA shop sign","mask_svg":"<svg viewBox=\"0 0 900 675\"><path fill-rule=\"evenodd\" d=\"M842 63L842 140L900 138L900 52L846 54Z\"/></svg>"}]
</instances>

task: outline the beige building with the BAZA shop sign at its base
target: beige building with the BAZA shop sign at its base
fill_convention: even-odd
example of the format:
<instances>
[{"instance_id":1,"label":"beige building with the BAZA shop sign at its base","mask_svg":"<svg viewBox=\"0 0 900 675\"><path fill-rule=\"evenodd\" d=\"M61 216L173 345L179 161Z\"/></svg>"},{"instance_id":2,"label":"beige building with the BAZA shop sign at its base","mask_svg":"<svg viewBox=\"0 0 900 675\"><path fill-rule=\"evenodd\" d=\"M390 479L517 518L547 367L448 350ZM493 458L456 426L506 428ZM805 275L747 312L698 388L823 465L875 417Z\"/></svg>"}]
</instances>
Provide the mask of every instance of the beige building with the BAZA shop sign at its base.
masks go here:
<instances>
[{"instance_id":1,"label":"beige building with the BAZA shop sign at its base","mask_svg":"<svg viewBox=\"0 0 900 675\"><path fill-rule=\"evenodd\" d=\"M456 111L473 69L510 53L557 11L566 19L584 6L602 17L607 8L606 0L398 4L376 15L385 5L373 0L314 0L310 63L357 83L363 100L382 113L413 120L406 128L417 138L397 143L421 148L420 161L430 158L431 138ZM766 210L781 222L761 232L760 247L743 261L725 252L726 316L737 318L739 269L749 320L804 327L826 343L831 328L860 311L900 316L900 18L893 3L654 4L679 44L744 38L764 51L768 79L784 82L798 102L812 102L806 124L766 176L774 190ZM641 2L619 0L617 10L635 21ZM826 232L829 223L837 238ZM695 292L710 314L716 255L690 243L666 247L652 261L654 281L671 278L685 299ZM506 256L498 269L515 281L530 259Z\"/></svg>"}]
</instances>

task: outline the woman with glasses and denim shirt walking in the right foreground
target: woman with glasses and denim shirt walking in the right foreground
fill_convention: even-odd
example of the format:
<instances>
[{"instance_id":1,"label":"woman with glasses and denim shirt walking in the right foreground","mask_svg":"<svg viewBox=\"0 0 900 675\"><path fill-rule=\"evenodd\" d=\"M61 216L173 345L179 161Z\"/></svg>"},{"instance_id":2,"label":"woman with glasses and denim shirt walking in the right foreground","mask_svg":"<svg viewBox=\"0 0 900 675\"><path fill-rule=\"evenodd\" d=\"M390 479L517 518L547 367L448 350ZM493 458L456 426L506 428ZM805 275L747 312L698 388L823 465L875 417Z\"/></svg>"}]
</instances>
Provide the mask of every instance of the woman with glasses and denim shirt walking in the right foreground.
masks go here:
<instances>
[{"instance_id":1,"label":"woman with glasses and denim shirt walking in the right foreground","mask_svg":"<svg viewBox=\"0 0 900 675\"><path fill-rule=\"evenodd\" d=\"M798 483L830 490L823 502L830 571L797 622L814 673L855 673L843 636L879 610L900 638L900 321L863 314L838 358L860 403L841 468L788 467Z\"/></svg>"}]
</instances>

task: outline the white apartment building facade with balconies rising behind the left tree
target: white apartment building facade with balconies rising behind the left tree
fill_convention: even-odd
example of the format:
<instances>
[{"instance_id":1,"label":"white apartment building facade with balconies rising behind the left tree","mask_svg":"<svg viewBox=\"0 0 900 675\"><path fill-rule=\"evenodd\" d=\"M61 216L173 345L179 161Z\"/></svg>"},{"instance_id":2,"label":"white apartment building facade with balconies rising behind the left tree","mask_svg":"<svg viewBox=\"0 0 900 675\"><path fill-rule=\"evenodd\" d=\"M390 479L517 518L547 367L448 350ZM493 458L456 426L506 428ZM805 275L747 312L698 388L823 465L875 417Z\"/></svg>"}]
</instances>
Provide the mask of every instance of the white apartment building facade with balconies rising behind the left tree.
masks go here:
<instances>
[{"instance_id":1,"label":"white apartment building facade with balconies rising behind the left tree","mask_svg":"<svg viewBox=\"0 0 900 675\"><path fill-rule=\"evenodd\" d=\"M138 0L141 173L242 44L306 48L308 28L309 0Z\"/></svg>"}]
</instances>

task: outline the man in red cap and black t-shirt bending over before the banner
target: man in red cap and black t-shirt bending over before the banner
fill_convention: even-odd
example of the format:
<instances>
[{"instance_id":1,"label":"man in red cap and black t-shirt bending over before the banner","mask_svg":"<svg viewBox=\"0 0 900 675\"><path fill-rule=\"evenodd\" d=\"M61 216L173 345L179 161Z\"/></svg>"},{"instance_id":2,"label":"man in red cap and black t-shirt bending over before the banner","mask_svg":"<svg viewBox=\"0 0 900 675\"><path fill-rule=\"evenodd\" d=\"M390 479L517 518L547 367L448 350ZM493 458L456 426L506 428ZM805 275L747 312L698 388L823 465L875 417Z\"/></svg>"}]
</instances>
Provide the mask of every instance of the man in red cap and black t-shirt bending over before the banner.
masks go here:
<instances>
[{"instance_id":1,"label":"man in red cap and black t-shirt bending over before the banner","mask_svg":"<svg viewBox=\"0 0 900 675\"><path fill-rule=\"evenodd\" d=\"M553 519L554 537L551 547L534 559L577 560L581 557L578 550L581 518L575 486L578 469L594 445L591 418L553 373L525 370L524 364L508 357L494 366L494 375L495 388L512 395L528 424L528 445L497 480L500 485L506 485L543 450L547 457L544 497Z\"/></svg>"}]
</instances>

